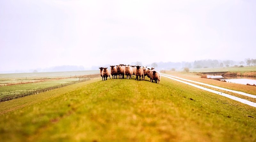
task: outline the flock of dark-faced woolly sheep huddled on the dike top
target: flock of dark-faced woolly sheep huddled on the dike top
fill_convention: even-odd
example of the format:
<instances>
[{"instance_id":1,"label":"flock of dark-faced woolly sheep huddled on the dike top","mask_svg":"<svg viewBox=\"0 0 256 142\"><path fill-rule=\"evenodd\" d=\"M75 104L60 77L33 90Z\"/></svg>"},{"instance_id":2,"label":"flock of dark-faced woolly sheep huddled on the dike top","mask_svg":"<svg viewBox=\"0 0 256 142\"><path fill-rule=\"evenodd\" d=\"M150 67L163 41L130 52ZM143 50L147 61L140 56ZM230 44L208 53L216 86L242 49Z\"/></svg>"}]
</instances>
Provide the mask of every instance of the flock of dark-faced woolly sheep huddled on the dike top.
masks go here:
<instances>
[{"instance_id":1,"label":"flock of dark-faced woolly sheep huddled on the dike top","mask_svg":"<svg viewBox=\"0 0 256 142\"><path fill-rule=\"evenodd\" d=\"M112 75L112 79L116 79L117 76L119 78L124 79L124 75L126 75L126 78L132 78L133 75L136 76L135 80L137 79L139 81L139 78L142 80L145 80L145 77L147 76L150 78L150 81L155 83L160 83L161 75L159 71L155 71L155 68L147 68L147 67L141 67L141 66L130 66L125 64L119 64L110 66L110 71L108 68L100 67L100 76L102 77L102 80L107 80L108 77L111 79L110 75Z\"/></svg>"}]
</instances>

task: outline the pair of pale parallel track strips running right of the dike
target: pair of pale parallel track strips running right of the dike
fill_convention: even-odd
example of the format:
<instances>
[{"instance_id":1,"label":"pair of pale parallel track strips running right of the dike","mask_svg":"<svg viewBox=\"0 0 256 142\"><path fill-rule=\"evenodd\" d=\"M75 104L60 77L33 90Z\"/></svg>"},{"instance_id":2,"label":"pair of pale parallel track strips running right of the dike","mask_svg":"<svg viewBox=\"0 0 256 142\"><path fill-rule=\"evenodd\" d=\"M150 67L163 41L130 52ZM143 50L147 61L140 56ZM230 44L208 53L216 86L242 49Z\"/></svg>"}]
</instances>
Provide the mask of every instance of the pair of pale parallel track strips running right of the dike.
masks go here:
<instances>
[{"instance_id":1,"label":"pair of pale parallel track strips running right of the dike","mask_svg":"<svg viewBox=\"0 0 256 142\"><path fill-rule=\"evenodd\" d=\"M205 83L202 83L202 82L197 82L197 81L193 81L193 80L189 80L189 79L185 79L185 78L175 77L175 76L171 76L171 75L167 75L167 74L163 74L163 73L161 73L161 75L163 77L170 78L170 79L173 79L173 80L176 80L176 81L188 84L190 86L194 86L196 88L199 88L199 89L202 89L202 90L205 90L205 91L209 91L209 92L212 92L212 93L219 94L221 96L228 97L228 98L230 98L232 100L239 101L241 103L250 105L252 107L256 107L256 103L255 102L248 101L248 100L245 100L245 99L241 99L241 98L238 98L236 96L229 95L227 93L215 91L215 90L212 90L212 89L209 89L209 88L205 88L203 86L199 86L199 85L192 84L192 83L189 83L189 82L193 82L193 83L197 83L197 84L201 84L201 85L205 85L205 86L210 86L210 87L213 87L213 88L217 88L217 89L220 89L220 90L224 90L224 91L228 91L228 92L232 92L232 93L237 93L237 94L245 95L245 96L252 97L252 98L256 98L255 95L244 93L244 92L240 92L240 91L230 90L230 89L226 89L226 88L222 88L222 87L218 87L218 86L213 86L213 85L209 85L209 84L205 84ZM185 80L185 81L183 81L183 80ZM186 82L186 81L189 81L189 82Z\"/></svg>"}]
</instances>

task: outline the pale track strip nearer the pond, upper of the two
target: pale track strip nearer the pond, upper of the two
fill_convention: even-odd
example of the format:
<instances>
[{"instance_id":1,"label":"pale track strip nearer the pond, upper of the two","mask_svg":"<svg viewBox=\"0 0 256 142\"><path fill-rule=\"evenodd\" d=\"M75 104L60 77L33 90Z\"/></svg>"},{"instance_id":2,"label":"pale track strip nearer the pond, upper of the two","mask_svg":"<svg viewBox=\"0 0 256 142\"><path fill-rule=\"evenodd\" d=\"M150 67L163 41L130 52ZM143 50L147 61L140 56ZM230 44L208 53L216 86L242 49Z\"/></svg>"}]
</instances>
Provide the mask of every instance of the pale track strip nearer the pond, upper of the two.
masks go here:
<instances>
[{"instance_id":1,"label":"pale track strip nearer the pond, upper of the two","mask_svg":"<svg viewBox=\"0 0 256 142\"><path fill-rule=\"evenodd\" d=\"M212 87L212 88L237 93L237 94L244 95L244 96L251 97L251 98L256 98L256 95L252 95L252 94L248 94L248 93L244 93L244 92L240 92L240 91L230 90L230 89L227 89L227 88L213 86L213 85L210 85L210 84L205 84L205 83L202 83L202 82L197 82L197 81L193 81L193 80L189 80L189 79L185 79L185 78L175 77L175 76L167 75L167 74L163 74L163 73L161 73L161 75L169 76L169 77L172 77L172 78L178 78L178 79L189 81L189 82L194 82L194 83L201 84L201 85L204 85L204 86L209 86L209 87Z\"/></svg>"}]
</instances>

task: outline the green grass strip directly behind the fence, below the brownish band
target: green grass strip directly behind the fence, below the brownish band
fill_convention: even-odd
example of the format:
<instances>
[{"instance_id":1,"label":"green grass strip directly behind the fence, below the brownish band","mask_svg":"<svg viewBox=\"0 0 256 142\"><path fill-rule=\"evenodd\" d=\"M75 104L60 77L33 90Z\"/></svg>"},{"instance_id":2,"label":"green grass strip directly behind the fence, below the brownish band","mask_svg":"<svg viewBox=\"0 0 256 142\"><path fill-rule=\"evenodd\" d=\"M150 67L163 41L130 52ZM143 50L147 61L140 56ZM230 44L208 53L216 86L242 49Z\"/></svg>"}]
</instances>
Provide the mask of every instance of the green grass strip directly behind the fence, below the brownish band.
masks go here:
<instances>
[{"instance_id":1,"label":"green grass strip directly behind the fence, below the brownish band","mask_svg":"<svg viewBox=\"0 0 256 142\"><path fill-rule=\"evenodd\" d=\"M78 80L77 78L65 78L65 79L50 80L50 81L43 81L43 82L36 82L36 83L12 85L12 86L0 86L0 97L12 96L13 94L51 87L51 86L60 85L63 83L68 83L71 81L77 81L77 80Z\"/></svg>"}]
</instances>

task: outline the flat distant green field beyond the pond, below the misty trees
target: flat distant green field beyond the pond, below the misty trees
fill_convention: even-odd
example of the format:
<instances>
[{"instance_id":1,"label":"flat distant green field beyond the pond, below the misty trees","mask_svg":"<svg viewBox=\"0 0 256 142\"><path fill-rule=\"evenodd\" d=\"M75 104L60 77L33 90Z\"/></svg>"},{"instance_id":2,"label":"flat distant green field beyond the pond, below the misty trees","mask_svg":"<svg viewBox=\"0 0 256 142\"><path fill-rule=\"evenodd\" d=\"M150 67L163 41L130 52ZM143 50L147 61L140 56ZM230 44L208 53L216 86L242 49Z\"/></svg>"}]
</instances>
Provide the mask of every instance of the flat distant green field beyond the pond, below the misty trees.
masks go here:
<instances>
[{"instance_id":1,"label":"flat distant green field beyond the pond, below the misty trees","mask_svg":"<svg viewBox=\"0 0 256 142\"><path fill-rule=\"evenodd\" d=\"M200 68L200 69L189 69L190 72L219 72L219 71L231 71L231 72L248 72L256 71L256 67L222 67L222 68Z\"/></svg>"}]
</instances>

